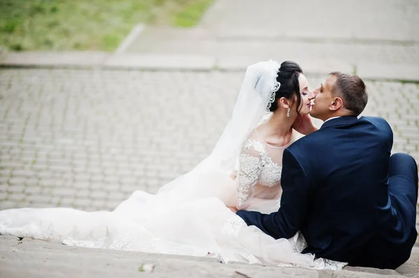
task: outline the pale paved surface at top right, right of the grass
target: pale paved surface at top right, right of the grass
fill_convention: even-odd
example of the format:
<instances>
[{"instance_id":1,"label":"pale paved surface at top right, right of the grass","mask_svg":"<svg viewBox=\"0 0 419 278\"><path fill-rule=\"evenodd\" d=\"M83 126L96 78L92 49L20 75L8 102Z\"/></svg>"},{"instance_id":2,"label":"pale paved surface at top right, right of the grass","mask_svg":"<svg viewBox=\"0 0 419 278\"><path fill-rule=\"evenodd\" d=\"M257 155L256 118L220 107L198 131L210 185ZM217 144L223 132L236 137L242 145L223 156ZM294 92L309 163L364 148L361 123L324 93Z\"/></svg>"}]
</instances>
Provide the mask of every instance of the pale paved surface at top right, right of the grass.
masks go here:
<instances>
[{"instance_id":1,"label":"pale paved surface at top right, right of the grass","mask_svg":"<svg viewBox=\"0 0 419 278\"><path fill-rule=\"evenodd\" d=\"M219 0L201 26L225 37L418 42L416 0Z\"/></svg>"}]
</instances>

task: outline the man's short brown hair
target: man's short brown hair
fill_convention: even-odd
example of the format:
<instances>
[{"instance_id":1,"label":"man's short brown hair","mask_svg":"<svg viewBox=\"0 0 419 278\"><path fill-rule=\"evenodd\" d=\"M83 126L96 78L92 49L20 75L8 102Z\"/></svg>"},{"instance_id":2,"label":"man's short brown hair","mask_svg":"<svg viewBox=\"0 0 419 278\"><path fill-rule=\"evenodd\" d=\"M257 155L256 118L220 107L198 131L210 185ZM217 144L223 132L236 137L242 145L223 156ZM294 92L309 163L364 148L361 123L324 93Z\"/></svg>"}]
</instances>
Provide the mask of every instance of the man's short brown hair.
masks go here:
<instances>
[{"instance_id":1,"label":"man's short brown hair","mask_svg":"<svg viewBox=\"0 0 419 278\"><path fill-rule=\"evenodd\" d=\"M365 83L358 75L350 75L342 72L330 72L336 77L332 93L340 95L344 100L344 107L355 113L356 116L364 111L368 102L368 93Z\"/></svg>"}]
</instances>

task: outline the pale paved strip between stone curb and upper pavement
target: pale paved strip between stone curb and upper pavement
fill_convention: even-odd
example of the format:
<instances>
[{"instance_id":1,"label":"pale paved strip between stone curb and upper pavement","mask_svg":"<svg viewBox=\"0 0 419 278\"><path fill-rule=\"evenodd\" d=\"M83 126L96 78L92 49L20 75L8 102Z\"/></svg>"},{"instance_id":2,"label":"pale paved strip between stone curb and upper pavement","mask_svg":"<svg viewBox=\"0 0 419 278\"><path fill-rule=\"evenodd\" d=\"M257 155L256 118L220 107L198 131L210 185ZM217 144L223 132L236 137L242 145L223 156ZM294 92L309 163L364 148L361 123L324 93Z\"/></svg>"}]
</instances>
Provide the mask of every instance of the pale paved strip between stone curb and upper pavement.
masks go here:
<instances>
[{"instance_id":1,"label":"pale paved strip between stone curb and upper pavement","mask_svg":"<svg viewBox=\"0 0 419 278\"><path fill-rule=\"evenodd\" d=\"M161 33L160 33L161 32ZM350 63L419 63L415 45L364 45L355 43L315 43L286 40L219 40L196 33L176 36L167 29L145 31L126 52L148 54L191 54L207 56L257 56L259 59L336 59Z\"/></svg>"}]
</instances>

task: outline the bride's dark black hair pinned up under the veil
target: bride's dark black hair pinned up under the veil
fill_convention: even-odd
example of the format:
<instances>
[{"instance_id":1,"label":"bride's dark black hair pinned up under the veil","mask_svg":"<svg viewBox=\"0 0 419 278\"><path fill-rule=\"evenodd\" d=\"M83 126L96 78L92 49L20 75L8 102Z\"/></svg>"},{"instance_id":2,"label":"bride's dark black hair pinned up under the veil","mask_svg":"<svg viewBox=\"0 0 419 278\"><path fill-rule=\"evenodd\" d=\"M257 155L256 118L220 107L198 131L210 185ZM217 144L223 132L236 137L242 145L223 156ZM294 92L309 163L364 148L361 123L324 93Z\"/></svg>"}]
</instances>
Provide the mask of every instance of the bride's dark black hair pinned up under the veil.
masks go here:
<instances>
[{"instance_id":1,"label":"bride's dark black hair pinned up under the veil","mask_svg":"<svg viewBox=\"0 0 419 278\"><path fill-rule=\"evenodd\" d=\"M301 105L301 95L300 95L300 82L298 82L298 77L302 73L300 65L293 61L285 61L281 63L279 68L277 82L281 84L278 91L275 92L275 100L272 102L270 111L274 112L278 109L278 100L280 98L286 98L293 102L295 98L297 99L297 115L300 115L298 110Z\"/></svg>"}]
</instances>

